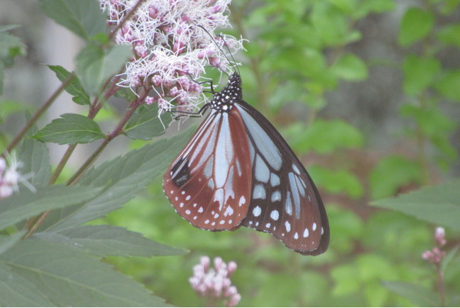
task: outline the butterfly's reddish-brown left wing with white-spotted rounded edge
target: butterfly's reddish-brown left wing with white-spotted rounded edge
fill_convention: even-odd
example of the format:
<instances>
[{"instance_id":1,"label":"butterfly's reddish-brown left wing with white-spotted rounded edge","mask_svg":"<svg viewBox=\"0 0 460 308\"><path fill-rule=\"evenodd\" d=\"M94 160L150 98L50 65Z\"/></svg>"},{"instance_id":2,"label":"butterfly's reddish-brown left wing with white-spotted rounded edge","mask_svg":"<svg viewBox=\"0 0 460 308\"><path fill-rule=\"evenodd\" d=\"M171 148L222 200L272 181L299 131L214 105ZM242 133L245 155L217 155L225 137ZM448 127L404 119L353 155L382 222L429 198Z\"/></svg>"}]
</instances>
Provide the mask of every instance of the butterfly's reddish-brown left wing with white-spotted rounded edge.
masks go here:
<instances>
[{"instance_id":1,"label":"butterfly's reddish-brown left wing with white-spotted rounded edge","mask_svg":"<svg viewBox=\"0 0 460 308\"><path fill-rule=\"evenodd\" d=\"M236 108L212 110L163 177L171 204L190 224L212 231L238 227L251 200L246 128Z\"/></svg>"}]
</instances>

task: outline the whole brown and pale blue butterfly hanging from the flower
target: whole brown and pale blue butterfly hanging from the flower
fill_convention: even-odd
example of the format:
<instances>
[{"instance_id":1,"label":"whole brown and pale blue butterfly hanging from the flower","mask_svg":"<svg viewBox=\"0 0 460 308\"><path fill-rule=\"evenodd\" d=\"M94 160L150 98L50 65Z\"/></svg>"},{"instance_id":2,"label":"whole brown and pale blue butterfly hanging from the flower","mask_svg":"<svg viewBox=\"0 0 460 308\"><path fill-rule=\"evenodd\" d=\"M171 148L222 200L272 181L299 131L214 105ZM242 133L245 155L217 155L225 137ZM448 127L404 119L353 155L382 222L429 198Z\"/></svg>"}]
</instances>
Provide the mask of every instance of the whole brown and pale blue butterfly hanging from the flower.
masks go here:
<instances>
[{"instance_id":1,"label":"whole brown and pale blue butterfly hanging from the flower","mask_svg":"<svg viewBox=\"0 0 460 308\"><path fill-rule=\"evenodd\" d=\"M234 72L212 93L202 108L209 115L163 177L176 212L200 229L245 226L303 255L326 251L329 223L321 196L280 133L243 101L240 75Z\"/></svg>"}]
</instances>

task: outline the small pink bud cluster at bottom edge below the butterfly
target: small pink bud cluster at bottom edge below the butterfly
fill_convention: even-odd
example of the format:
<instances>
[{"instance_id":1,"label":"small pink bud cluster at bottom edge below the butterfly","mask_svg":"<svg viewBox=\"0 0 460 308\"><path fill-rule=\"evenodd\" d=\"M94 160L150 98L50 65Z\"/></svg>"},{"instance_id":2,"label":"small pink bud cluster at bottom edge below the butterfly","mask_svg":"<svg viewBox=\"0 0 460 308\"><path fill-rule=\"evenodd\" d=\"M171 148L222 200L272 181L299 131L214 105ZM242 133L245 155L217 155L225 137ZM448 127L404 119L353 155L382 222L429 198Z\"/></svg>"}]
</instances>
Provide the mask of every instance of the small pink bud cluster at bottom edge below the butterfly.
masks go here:
<instances>
[{"instance_id":1,"label":"small pink bud cluster at bottom edge below the butterfly","mask_svg":"<svg viewBox=\"0 0 460 308\"><path fill-rule=\"evenodd\" d=\"M231 285L230 276L236 270L236 263L227 264L222 258L214 258L214 268L210 268L209 257L200 258L200 263L193 267L193 276L189 279L190 285L198 295L208 297L210 302L224 300L224 306L235 307L241 300L241 295L234 285Z\"/></svg>"}]
</instances>

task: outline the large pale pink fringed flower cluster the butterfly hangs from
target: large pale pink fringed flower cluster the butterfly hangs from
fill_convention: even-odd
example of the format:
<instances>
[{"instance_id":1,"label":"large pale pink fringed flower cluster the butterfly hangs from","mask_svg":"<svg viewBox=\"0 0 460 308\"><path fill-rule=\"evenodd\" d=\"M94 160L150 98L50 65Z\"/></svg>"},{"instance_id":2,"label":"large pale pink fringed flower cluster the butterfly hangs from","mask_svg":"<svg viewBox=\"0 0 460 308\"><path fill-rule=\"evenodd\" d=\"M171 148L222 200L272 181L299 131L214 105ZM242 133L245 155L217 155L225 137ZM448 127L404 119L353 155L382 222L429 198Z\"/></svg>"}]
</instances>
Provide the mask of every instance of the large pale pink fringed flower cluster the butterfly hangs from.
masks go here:
<instances>
[{"instance_id":1,"label":"large pale pink fringed flower cluster the butterfly hangs from","mask_svg":"<svg viewBox=\"0 0 460 308\"><path fill-rule=\"evenodd\" d=\"M133 91L139 86L154 90L146 103L171 110L193 110L201 101L203 87L197 82L205 66L230 72L224 55L242 48L241 40L216 38L217 28L230 26L226 16L231 0L144 0L134 16L116 33L118 44L132 45L134 59L127 63L120 86ZM100 0L110 25L119 24L138 0ZM224 47L226 45L226 47ZM223 52L224 51L224 52ZM192 79L192 80L191 80Z\"/></svg>"}]
</instances>

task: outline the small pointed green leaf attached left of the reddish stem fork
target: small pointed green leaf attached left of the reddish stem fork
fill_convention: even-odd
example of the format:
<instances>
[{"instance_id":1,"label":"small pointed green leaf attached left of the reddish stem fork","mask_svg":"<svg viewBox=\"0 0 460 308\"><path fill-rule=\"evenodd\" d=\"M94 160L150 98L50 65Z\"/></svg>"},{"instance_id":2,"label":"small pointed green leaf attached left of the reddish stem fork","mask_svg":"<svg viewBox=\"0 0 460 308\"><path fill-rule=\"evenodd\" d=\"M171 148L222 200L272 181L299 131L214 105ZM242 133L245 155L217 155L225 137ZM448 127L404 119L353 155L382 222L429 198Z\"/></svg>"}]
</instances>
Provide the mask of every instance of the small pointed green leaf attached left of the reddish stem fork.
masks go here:
<instances>
[{"instance_id":1,"label":"small pointed green leaf attached left of the reddish stem fork","mask_svg":"<svg viewBox=\"0 0 460 308\"><path fill-rule=\"evenodd\" d=\"M105 135L94 120L76 113L65 113L61 118L52 120L33 137L41 142L76 144L103 139Z\"/></svg>"}]
</instances>

